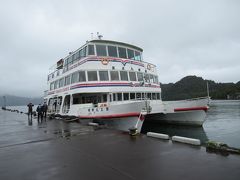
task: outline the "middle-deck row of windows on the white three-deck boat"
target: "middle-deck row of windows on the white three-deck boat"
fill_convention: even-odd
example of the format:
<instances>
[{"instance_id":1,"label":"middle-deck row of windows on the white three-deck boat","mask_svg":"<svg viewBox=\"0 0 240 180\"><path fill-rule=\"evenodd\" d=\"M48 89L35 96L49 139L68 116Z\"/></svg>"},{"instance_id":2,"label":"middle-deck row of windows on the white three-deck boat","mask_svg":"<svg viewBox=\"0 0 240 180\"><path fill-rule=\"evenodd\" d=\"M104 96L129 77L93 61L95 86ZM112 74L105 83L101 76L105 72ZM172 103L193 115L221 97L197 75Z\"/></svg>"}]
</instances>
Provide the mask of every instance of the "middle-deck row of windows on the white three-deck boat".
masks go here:
<instances>
[{"instance_id":1,"label":"middle-deck row of windows on the white three-deck boat","mask_svg":"<svg viewBox=\"0 0 240 180\"><path fill-rule=\"evenodd\" d=\"M158 84L158 76L134 71L77 71L50 84L50 90L86 81L139 81Z\"/></svg>"}]
</instances>

